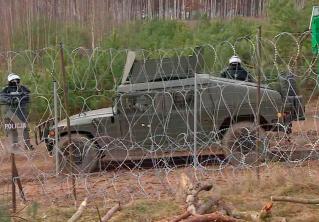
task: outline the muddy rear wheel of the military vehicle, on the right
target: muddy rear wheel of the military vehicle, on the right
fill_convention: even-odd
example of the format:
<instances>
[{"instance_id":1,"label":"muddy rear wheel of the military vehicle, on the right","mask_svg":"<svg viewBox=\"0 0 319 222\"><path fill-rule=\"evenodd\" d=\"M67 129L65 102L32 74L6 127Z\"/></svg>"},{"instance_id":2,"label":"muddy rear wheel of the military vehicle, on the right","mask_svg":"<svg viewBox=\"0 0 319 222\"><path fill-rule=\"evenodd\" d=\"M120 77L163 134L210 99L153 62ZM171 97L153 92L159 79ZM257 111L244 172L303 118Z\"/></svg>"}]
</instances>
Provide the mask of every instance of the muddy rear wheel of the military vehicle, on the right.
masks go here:
<instances>
[{"instance_id":1,"label":"muddy rear wheel of the military vehicle, on the right","mask_svg":"<svg viewBox=\"0 0 319 222\"><path fill-rule=\"evenodd\" d=\"M263 160L265 131L259 128L260 147L257 151L257 127L252 122L239 122L232 125L223 137L223 149L226 159L234 166L258 164Z\"/></svg>"}]
</instances>

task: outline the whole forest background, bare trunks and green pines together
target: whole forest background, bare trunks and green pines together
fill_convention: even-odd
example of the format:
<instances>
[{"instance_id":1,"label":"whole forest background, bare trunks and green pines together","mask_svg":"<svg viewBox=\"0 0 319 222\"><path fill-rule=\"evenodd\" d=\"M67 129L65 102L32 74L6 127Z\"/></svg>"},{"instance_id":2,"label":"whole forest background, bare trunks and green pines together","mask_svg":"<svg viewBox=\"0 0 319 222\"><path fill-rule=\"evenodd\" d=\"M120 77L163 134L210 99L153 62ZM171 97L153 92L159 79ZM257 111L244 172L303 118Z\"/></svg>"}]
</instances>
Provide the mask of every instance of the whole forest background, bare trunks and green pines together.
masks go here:
<instances>
[{"instance_id":1,"label":"whole forest background, bare trunks and green pines together","mask_svg":"<svg viewBox=\"0 0 319 222\"><path fill-rule=\"evenodd\" d=\"M311 1L133 2L0 1L4 18L4 34L0 37L1 82L6 81L8 72L14 71L22 75L36 98L51 98L52 82L47 80L61 82L59 44L63 43L71 112L83 109L83 98L90 109L105 107L110 105L120 82L127 49L140 51L145 59L182 55L189 53L187 48L204 46L204 71L218 75L234 53L230 43L236 45L245 67L254 73L255 52L251 47L261 26L264 80L270 83L278 73L295 65L302 79L298 84L313 89L314 78L309 78L313 55L310 33L306 32ZM233 8L239 14L229 14ZM191 9L188 18L181 16L186 9ZM296 55L302 55L298 64L294 64ZM32 106L31 118L48 107L43 102Z\"/></svg>"}]
</instances>

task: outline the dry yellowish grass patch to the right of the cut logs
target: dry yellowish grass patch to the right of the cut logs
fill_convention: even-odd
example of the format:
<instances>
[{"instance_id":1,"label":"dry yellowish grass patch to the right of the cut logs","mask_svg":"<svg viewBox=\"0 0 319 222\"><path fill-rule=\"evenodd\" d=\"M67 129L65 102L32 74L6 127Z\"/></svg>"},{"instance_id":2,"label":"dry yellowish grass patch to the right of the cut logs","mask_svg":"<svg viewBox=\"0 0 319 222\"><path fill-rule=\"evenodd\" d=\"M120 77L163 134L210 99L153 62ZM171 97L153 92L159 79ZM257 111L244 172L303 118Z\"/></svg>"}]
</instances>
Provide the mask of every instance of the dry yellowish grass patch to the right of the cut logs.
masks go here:
<instances>
[{"instance_id":1,"label":"dry yellowish grass patch to the right of the cut logs","mask_svg":"<svg viewBox=\"0 0 319 222\"><path fill-rule=\"evenodd\" d=\"M260 181L256 179L253 171L229 178L226 185L218 186L215 192L243 211L260 210L270 202L271 196L319 197L317 175L310 175L308 167L287 170L283 165L285 164L274 164L263 170ZM276 202L273 215L287 217L289 221L319 221L318 210L318 205Z\"/></svg>"}]
</instances>

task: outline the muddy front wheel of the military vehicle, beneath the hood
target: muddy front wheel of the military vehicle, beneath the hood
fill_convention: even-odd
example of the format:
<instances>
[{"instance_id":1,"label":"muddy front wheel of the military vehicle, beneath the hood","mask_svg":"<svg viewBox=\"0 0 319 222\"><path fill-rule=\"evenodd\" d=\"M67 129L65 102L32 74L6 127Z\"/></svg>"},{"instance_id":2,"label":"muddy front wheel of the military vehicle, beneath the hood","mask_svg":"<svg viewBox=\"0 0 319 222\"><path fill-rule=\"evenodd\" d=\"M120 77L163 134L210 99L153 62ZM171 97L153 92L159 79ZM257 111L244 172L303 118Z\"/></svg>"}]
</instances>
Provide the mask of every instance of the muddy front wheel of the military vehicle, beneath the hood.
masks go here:
<instances>
[{"instance_id":1,"label":"muddy front wheel of the military vehicle, beneath the hood","mask_svg":"<svg viewBox=\"0 0 319 222\"><path fill-rule=\"evenodd\" d=\"M95 144L85 135L72 134L71 144L68 136L60 138L59 170L64 173L91 173L98 163L98 152Z\"/></svg>"}]
</instances>

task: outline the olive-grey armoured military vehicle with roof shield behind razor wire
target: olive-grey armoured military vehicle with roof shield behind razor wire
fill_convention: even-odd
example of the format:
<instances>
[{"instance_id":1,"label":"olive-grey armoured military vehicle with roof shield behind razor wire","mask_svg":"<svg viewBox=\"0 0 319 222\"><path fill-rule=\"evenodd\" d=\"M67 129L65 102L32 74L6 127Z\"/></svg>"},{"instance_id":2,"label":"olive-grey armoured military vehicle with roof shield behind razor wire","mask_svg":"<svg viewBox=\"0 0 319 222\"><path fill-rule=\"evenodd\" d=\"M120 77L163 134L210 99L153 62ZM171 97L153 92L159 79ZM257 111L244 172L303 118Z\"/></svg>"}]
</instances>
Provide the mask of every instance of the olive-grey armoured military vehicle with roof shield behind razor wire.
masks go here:
<instances>
[{"instance_id":1,"label":"olive-grey armoured military vehicle with roof shield behind razor wire","mask_svg":"<svg viewBox=\"0 0 319 222\"><path fill-rule=\"evenodd\" d=\"M232 164L251 164L262 160L266 131L290 133L292 121L304 119L293 78L281 79L281 92L261 85L257 118L257 84L202 73L200 60L191 55L145 61L129 52L113 106L71 116L71 144L67 121L58 123L61 170L91 172L100 160L191 156L194 138L195 155L223 154ZM38 130L52 152L52 121Z\"/></svg>"}]
</instances>

